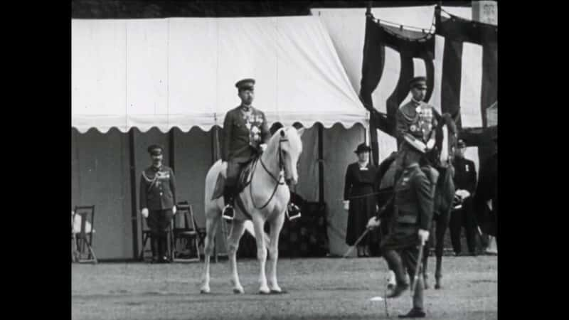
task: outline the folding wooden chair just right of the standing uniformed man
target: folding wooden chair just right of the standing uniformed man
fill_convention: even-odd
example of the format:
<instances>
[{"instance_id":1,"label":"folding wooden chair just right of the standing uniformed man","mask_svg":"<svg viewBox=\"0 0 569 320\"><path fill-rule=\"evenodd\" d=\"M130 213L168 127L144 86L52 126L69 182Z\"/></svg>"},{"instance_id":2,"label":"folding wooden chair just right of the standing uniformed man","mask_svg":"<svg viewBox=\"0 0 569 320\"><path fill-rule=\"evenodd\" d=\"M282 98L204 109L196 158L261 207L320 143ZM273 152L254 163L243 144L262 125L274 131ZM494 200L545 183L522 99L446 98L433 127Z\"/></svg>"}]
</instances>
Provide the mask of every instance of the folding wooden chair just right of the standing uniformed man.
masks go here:
<instances>
[{"instance_id":1,"label":"folding wooden chair just right of the standing uniformed man","mask_svg":"<svg viewBox=\"0 0 569 320\"><path fill-rule=\"evenodd\" d=\"M196 220L193 218L191 204L184 201L176 205L178 209L174 215L172 228L172 257L173 262L199 262L200 234L196 228ZM183 250L178 250L178 244L183 246ZM192 257L192 253L195 254Z\"/></svg>"}]
</instances>

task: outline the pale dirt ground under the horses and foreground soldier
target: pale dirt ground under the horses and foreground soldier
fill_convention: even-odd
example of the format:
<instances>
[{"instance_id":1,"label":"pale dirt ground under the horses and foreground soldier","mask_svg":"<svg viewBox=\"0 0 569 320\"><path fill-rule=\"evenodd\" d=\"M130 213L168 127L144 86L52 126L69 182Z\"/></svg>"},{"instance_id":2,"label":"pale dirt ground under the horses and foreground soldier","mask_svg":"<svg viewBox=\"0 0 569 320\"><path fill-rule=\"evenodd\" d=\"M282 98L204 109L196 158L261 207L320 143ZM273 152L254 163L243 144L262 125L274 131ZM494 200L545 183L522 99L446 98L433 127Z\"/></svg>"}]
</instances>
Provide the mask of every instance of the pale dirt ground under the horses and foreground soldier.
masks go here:
<instances>
[{"instance_id":1,"label":"pale dirt ground under the horses and foreground soldier","mask_svg":"<svg viewBox=\"0 0 569 320\"><path fill-rule=\"evenodd\" d=\"M497 257L443 257L443 288L433 289L430 258L427 319L497 319ZM211 294L199 293L203 263L73 264L73 319L397 319L411 307L409 292L385 295L380 257L282 259L279 284L287 294L257 294L258 263L238 260L245 294L233 294L229 262L211 264Z\"/></svg>"}]
</instances>

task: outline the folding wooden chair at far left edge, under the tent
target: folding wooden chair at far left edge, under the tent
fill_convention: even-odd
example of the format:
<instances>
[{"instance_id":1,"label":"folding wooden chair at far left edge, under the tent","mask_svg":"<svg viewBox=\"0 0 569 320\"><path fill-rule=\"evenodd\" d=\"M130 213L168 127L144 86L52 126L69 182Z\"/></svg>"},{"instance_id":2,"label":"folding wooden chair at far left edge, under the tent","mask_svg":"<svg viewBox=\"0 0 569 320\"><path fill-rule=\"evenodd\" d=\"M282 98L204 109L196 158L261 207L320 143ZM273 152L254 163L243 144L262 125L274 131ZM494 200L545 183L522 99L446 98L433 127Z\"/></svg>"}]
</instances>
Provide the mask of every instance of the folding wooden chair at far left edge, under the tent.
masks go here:
<instances>
[{"instance_id":1,"label":"folding wooden chair at far left edge, under the tent","mask_svg":"<svg viewBox=\"0 0 569 320\"><path fill-rule=\"evenodd\" d=\"M76 228L78 219L80 227ZM92 248L93 233L95 233L95 206L75 206L71 225L74 249L73 260L75 262L97 263L95 251ZM83 257L87 255L87 258Z\"/></svg>"}]
</instances>

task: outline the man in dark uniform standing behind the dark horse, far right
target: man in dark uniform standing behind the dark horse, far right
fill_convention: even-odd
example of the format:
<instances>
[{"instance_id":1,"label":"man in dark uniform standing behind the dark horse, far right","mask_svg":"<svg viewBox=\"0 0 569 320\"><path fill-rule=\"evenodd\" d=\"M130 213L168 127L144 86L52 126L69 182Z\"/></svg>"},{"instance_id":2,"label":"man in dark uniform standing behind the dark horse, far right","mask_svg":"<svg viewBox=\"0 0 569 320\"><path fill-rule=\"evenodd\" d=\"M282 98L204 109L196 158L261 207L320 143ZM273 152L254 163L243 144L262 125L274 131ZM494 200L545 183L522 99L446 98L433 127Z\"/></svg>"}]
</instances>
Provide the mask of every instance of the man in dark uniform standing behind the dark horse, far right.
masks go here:
<instances>
[{"instance_id":1,"label":"man in dark uniform standing behind the dark horse, far right","mask_svg":"<svg viewBox=\"0 0 569 320\"><path fill-rule=\"evenodd\" d=\"M450 215L450 240L452 249L456 255L460 255L460 231L464 227L467 238L467 247L470 255L476 255L477 223L472 206L472 196L476 190L477 174L474 162L464 158L467 145L459 139L457 149L454 150L454 186L455 196L459 198L459 204L452 210Z\"/></svg>"}]
</instances>

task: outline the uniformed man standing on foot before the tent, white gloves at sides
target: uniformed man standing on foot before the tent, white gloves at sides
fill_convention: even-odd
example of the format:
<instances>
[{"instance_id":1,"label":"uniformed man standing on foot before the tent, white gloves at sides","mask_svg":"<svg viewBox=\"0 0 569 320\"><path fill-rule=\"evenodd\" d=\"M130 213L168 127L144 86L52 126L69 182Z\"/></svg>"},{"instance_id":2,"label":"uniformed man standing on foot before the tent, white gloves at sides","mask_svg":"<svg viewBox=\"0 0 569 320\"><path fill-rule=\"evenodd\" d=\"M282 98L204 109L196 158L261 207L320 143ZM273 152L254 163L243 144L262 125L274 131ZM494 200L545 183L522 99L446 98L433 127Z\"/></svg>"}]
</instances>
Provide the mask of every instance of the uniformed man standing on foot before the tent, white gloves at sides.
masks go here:
<instances>
[{"instance_id":1,"label":"uniformed man standing on foot before the tent, white gloves at sides","mask_svg":"<svg viewBox=\"0 0 569 320\"><path fill-rule=\"evenodd\" d=\"M174 171L162 164L164 148L153 144L148 147L152 164L140 177L141 214L150 228L152 262L169 262L166 257L167 230L176 214L176 180Z\"/></svg>"}]
</instances>

